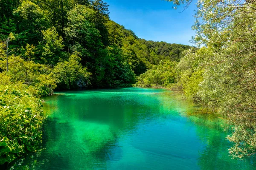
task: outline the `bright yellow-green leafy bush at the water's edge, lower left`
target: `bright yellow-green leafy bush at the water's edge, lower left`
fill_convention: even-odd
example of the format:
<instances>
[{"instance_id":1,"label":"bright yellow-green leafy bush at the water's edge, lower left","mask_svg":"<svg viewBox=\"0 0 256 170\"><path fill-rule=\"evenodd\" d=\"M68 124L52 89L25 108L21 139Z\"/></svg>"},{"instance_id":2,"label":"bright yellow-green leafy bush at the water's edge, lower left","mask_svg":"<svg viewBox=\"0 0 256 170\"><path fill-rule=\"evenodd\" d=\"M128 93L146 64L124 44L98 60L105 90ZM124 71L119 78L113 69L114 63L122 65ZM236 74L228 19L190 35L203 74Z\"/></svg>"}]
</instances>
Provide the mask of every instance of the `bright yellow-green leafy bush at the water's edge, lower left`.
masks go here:
<instances>
[{"instance_id":1,"label":"bright yellow-green leafy bush at the water's edge, lower left","mask_svg":"<svg viewBox=\"0 0 256 170\"><path fill-rule=\"evenodd\" d=\"M0 164L11 162L41 145L41 101L27 85L0 74Z\"/></svg>"}]
</instances>

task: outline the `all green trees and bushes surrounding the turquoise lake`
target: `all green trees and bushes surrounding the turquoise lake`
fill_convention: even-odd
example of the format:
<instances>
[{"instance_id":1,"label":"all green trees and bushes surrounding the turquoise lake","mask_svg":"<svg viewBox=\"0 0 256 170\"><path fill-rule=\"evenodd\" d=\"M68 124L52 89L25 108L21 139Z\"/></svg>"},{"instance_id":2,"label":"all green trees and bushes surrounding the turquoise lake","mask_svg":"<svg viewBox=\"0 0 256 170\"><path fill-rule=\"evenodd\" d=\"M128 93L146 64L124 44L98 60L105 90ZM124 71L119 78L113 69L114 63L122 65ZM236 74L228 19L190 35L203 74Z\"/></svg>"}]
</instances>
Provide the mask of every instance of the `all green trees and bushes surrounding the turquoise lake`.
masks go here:
<instances>
[{"instance_id":1,"label":"all green trees and bushes surrounding the turquoise lake","mask_svg":"<svg viewBox=\"0 0 256 170\"><path fill-rule=\"evenodd\" d=\"M245 2L198 2L192 47L140 39L102 0L0 1L0 166L40 150L42 97L131 85L180 90L218 110L233 126L230 155L254 156L256 3Z\"/></svg>"}]
</instances>

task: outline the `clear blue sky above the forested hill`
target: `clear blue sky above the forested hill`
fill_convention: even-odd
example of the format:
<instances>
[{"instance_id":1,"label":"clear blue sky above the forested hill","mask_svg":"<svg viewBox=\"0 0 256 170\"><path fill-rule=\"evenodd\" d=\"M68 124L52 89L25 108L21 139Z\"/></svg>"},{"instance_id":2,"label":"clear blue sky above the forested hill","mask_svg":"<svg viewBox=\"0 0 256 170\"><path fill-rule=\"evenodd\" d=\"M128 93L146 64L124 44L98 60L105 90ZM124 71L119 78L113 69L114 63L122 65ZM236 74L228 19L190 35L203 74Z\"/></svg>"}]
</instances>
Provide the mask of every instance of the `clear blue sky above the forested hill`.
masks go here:
<instances>
[{"instance_id":1,"label":"clear blue sky above the forested hill","mask_svg":"<svg viewBox=\"0 0 256 170\"><path fill-rule=\"evenodd\" d=\"M172 3L163 0L105 0L111 20L131 29L145 40L165 41L191 45L195 34L195 4L183 11L183 6L172 9ZM196 1L195 1L196 2ZM181 12L183 11L183 12ZM180 13L181 12L181 13Z\"/></svg>"}]
</instances>

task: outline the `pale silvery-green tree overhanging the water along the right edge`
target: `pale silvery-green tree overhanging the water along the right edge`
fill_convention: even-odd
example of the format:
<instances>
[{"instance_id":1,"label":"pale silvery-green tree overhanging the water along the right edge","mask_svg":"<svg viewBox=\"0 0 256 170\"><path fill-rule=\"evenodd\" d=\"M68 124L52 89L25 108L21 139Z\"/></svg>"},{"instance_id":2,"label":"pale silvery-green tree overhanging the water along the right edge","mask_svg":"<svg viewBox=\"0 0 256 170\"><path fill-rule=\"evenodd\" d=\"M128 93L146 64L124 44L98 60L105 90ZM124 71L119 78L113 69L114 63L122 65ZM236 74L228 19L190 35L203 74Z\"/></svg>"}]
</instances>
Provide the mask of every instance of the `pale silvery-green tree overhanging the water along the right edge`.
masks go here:
<instances>
[{"instance_id":1,"label":"pale silvery-green tree overhanging the water along the right edge","mask_svg":"<svg viewBox=\"0 0 256 170\"><path fill-rule=\"evenodd\" d=\"M172 0L170 0L172 1ZM176 5L191 0L172 1ZM233 127L227 138L230 154L256 154L256 2L254 0L199 0L193 41L206 46L205 72L198 95L218 108Z\"/></svg>"}]
</instances>

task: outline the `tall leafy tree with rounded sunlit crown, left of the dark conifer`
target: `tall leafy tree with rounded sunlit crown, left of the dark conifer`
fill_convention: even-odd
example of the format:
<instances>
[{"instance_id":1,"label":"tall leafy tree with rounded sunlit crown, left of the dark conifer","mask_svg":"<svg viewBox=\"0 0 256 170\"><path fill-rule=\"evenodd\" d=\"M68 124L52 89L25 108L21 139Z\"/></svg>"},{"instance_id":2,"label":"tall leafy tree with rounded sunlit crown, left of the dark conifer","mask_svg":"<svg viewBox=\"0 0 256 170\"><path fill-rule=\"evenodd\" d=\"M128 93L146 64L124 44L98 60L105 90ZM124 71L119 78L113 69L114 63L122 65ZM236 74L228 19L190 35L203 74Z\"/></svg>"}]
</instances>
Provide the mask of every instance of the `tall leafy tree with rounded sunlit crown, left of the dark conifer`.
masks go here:
<instances>
[{"instance_id":1,"label":"tall leafy tree with rounded sunlit crown, left of the dark conifer","mask_svg":"<svg viewBox=\"0 0 256 170\"><path fill-rule=\"evenodd\" d=\"M68 14L68 26L65 33L70 41L72 51L78 51L82 55L82 63L86 59L94 58L94 53L99 48L103 48L100 41L99 31L90 22L95 11L86 6L78 5Z\"/></svg>"}]
</instances>

